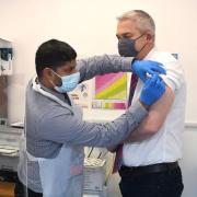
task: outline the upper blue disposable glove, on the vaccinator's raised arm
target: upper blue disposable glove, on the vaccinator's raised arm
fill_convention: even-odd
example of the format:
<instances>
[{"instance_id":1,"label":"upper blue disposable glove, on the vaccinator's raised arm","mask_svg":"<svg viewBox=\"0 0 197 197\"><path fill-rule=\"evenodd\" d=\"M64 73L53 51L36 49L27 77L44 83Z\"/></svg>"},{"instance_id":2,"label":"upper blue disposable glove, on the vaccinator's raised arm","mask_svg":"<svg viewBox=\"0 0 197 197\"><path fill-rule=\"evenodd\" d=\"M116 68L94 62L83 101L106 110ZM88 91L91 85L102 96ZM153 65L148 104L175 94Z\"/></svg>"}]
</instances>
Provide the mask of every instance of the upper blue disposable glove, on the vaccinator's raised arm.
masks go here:
<instances>
[{"instance_id":1,"label":"upper blue disposable glove, on the vaccinator's raised arm","mask_svg":"<svg viewBox=\"0 0 197 197\"><path fill-rule=\"evenodd\" d=\"M153 76L166 74L162 63L151 60L134 60L131 63L131 70L136 73L143 82L147 80L147 73Z\"/></svg>"}]
</instances>

